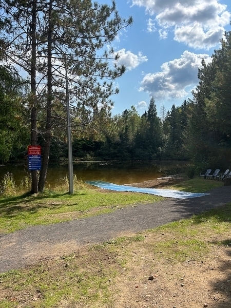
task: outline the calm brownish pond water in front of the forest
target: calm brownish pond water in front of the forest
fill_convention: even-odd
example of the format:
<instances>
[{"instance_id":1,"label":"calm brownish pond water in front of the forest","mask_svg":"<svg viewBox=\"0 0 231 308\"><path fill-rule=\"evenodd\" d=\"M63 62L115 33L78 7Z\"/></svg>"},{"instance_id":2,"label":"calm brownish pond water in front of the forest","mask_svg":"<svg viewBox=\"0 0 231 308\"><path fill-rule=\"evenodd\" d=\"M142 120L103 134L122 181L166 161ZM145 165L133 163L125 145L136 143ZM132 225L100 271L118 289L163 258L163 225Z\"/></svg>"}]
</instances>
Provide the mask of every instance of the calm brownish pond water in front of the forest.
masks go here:
<instances>
[{"instance_id":1,"label":"calm brownish pond water in front of the forest","mask_svg":"<svg viewBox=\"0 0 231 308\"><path fill-rule=\"evenodd\" d=\"M159 177L176 174L182 171L186 162L150 162L150 161L110 161L110 162L79 162L73 164L73 172L78 179L101 180L115 184L131 184L157 179ZM16 185L28 175L25 165L0 166L0 180L10 172ZM51 187L61 178L68 175L67 164L50 165L47 174L47 184Z\"/></svg>"}]
</instances>

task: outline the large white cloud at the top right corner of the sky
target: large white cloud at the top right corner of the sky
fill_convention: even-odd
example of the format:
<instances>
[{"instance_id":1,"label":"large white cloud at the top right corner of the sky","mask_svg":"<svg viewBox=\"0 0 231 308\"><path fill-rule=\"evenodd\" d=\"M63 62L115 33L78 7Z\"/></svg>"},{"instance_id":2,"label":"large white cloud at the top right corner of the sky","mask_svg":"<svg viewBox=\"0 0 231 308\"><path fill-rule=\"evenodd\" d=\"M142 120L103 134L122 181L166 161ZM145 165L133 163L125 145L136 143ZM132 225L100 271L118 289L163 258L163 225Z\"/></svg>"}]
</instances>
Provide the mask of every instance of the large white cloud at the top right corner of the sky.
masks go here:
<instances>
[{"instance_id":1,"label":"large white cloud at the top right corner of the sky","mask_svg":"<svg viewBox=\"0 0 231 308\"><path fill-rule=\"evenodd\" d=\"M217 46L231 18L226 5L218 0L132 0L132 4L156 15L161 38L173 30L176 41L195 49Z\"/></svg>"}]
</instances>

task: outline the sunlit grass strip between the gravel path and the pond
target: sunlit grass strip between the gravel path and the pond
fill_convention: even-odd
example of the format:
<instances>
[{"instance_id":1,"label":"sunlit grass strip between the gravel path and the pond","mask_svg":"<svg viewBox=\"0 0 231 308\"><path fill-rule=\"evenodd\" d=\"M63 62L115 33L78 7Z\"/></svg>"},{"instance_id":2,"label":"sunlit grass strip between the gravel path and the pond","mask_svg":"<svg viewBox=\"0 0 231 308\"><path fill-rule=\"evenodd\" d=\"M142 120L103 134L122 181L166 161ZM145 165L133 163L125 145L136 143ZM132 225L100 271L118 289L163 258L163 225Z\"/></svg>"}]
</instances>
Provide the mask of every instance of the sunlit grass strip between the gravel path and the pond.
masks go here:
<instances>
[{"instance_id":1,"label":"sunlit grass strip between the gravel path and the pond","mask_svg":"<svg viewBox=\"0 0 231 308\"><path fill-rule=\"evenodd\" d=\"M0 198L0 233L10 233L30 225L51 224L83 218L127 205L158 202L162 197L133 192L101 192L85 189L69 195L45 191L38 195Z\"/></svg>"}]
</instances>

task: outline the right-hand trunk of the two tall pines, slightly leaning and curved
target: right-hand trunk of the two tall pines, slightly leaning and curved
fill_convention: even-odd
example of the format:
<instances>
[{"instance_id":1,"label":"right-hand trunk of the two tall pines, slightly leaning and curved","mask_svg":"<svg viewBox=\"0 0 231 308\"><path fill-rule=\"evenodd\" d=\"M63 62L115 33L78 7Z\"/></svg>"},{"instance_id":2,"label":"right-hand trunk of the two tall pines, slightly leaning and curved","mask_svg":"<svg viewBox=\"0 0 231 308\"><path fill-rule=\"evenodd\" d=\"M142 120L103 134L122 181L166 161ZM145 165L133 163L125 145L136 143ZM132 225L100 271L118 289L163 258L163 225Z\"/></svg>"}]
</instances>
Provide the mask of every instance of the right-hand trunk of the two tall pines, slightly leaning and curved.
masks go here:
<instances>
[{"instance_id":1,"label":"right-hand trunk of the two tall pines, slightly leaning and curved","mask_svg":"<svg viewBox=\"0 0 231 308\"><path fill-rule=\"evenodd\" d=\"M47 44L47 116L46 116L46 135L45 135L45 146L43 151L42 169L40 172L40 179L38 181L38 191L43 192L47 169L49 163L50 154L50 139L51 139L51 107L52 107L52 4L53 0L49 3L49 25L48 25L48 44Z\"/></svg>"}]
</instances>

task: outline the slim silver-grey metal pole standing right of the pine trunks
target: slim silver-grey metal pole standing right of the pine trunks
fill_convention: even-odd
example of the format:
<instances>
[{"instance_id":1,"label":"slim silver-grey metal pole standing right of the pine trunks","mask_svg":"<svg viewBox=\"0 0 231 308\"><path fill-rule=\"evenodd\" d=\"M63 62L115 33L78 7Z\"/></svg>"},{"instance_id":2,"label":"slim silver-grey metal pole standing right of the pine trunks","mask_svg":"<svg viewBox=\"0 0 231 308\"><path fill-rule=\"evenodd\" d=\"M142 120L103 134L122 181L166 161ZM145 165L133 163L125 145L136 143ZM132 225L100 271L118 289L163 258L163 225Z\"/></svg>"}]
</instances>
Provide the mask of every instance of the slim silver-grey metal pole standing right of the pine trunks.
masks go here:
<instances>
[{"instance_id":1,"label":"slim silver-grey metal pole standing right of the pine trunks","mask_svg":"<svg viewBox=\"0 0 231 308\"><path fill-rule=\"evenodd\" d=\"M69 105L69 87L66 67L66 100L67 100L67 144L68 144L68 180L69 180L69 192L73 194L73 161L72 161L72 146L71 146L71 125L70 125L70 105Z\"/></svg>"}]
</instances>

